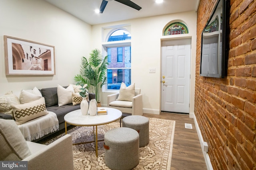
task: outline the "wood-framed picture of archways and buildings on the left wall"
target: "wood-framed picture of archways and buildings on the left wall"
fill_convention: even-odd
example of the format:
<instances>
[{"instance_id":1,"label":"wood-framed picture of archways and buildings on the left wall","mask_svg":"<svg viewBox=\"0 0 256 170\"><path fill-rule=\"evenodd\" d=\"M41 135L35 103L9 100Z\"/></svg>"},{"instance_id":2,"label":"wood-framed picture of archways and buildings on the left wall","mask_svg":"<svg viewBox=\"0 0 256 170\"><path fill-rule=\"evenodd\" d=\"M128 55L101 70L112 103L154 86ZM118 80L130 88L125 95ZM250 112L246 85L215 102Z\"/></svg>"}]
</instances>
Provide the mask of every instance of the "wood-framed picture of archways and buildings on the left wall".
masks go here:
<instances>
[{"instance_id":1,"label":"wood-framed picture of archways and buildings on the left wall","mask_svg":"<svg viewBox=\"0 0 256 170\"><path fill-rule=\"evenodd\" d=\"M4 35L6 75L55 75L55 48Z\"/></svg>"}]
</instances>

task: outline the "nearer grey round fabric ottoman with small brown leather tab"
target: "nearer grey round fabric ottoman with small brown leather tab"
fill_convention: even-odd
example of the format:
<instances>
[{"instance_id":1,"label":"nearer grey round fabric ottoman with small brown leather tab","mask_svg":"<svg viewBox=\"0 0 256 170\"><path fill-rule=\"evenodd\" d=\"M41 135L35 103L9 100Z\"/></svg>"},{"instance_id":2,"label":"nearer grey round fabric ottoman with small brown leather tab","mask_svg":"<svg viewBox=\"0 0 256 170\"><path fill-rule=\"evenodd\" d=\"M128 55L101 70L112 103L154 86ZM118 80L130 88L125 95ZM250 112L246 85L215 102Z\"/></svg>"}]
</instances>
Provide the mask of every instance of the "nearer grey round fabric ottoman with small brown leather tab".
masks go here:
<instances>
[{"instance_id":1,"label":"nearer grey round fabric ottoman with small brown leather tab","mask_svg":"<svg viewBox=\"0 0 256 170\"><path fill-rule=\"evenodd\" d=\"M139 163L139 134L117 127L104 135L105 163L112 170L131 170Z\"/></svg>"}]
</instances>

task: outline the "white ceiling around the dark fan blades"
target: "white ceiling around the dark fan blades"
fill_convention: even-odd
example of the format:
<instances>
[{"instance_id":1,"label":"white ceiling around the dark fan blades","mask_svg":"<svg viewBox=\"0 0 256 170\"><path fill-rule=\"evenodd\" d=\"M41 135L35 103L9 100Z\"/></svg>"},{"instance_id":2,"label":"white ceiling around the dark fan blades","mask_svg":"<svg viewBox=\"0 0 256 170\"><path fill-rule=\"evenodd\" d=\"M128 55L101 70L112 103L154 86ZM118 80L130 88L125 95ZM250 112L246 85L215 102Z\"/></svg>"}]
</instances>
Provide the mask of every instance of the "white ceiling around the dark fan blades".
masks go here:
<instances>
[{"instance_id":1,"label":"white ceiling around the dark fan blades","mask_svg":"<svg viewBox=\"0 0 256 170\"><path fill-rule=\"evenodd\" d=\"M135 10L120 2L111 0L108 2L102 14L96 14L95 9L100 8L102 0L45 0L54 6L76 16L80 20L96 25L120 20L129 20L149 16L173 14L178 12L197 10L200 0L164 0L162 4L157 4L155 0L132 0L142 7Z\"/></svg>"}]
</instances>

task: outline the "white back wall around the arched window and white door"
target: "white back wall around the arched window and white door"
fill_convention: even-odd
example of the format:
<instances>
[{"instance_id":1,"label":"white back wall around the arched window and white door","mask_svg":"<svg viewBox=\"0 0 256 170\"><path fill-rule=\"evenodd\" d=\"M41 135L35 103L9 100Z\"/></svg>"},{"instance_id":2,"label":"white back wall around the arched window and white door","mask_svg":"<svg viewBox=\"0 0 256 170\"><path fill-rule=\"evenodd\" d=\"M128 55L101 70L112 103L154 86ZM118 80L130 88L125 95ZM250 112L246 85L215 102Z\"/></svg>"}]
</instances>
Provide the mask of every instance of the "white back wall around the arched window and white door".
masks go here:
<instances>
[{"instance_id":1,"label":"white back wall around the arched window and white door","mask_svg":"<svg viewBox=\"0 0 256 170\"><path fill-rule=\"evenodd\" d=\"M162 33L170 21L184 21L189 29L185 35L162 36ZM102 39L106 38L104 29L114 25L130 25L127 27L132 35L132 83L141 88L143 94L144 113L160 113L161 92L161 41L166 39L192 39L191 59L191 90L190 113L194 112L194 86L196 63L196 12L184 12L163 16L154 16L134 20L105 23L92 26L92 47L102 49ZM129 29L130 28L130 29ZM156 73L149 73L149 68L156 68ZM106 96L102 94L102 105L106 105Z\"/></svg>"}]
</instances>

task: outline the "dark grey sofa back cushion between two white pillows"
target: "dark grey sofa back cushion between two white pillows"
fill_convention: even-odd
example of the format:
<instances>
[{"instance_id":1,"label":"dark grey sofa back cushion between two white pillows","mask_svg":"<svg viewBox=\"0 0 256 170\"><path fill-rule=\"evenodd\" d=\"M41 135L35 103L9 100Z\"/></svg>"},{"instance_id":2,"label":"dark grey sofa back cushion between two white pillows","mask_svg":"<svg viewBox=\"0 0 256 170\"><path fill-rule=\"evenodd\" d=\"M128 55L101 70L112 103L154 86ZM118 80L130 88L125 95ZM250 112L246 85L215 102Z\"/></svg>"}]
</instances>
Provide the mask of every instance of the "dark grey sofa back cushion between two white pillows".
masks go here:
<instances>
[{"instance_id":1,"label":"dark grey sofa back cushion between two white pillows","mask_svg":"<svg viewBox=\"0 0 256 170\"><path fill-rule=\"evenodd\" d=\"M57 87L42 88L41 93L44 97L46 107L58 105Z\"/></svg>"}]
</instances>

